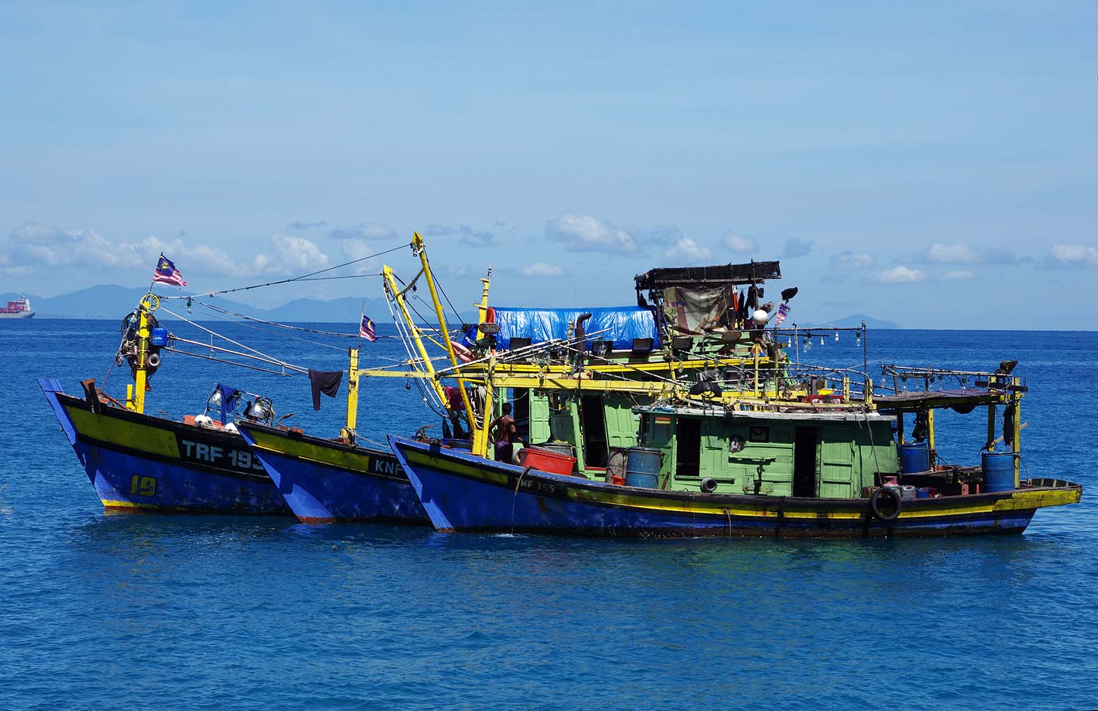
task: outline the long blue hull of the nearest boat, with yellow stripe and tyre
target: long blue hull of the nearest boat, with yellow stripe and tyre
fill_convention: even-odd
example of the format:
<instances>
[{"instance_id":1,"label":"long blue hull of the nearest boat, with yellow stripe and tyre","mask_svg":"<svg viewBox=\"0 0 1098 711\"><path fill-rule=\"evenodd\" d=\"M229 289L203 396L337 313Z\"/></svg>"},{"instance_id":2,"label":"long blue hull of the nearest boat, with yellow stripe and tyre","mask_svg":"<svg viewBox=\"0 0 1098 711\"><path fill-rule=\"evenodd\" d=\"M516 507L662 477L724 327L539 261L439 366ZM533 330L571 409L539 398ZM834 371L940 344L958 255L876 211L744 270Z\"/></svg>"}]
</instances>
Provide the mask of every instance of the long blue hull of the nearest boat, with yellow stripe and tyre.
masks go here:
<instances>
[{"instance_id":1,"label":"long blue hull of the nearest boat, with yellow stripe and tyre","mask_svg":"<svg viewBox=\"0 0 1098 711\"><path fill-rule=\"evenodd\" d=\"M977 495L964 497L971 501L916 504L910 508L921 510L885 522L869 512L865 499L661 492L525 470L401 438L392 438L391 444L439 531L642 538L932 537L1019 533L1035 510L994 510L1001 495Z\"/></svg>"}]
</instances>

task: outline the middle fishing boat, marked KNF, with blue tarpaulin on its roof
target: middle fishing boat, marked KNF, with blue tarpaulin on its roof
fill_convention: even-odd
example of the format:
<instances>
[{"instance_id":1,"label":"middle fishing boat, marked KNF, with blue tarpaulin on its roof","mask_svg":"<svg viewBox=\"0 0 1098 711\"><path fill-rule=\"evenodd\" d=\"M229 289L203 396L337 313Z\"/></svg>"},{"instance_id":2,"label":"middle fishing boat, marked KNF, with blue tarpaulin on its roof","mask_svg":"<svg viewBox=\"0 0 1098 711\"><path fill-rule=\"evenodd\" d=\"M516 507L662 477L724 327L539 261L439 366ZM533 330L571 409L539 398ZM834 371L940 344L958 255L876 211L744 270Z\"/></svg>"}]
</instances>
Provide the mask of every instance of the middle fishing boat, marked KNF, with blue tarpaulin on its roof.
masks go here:
<instances>
[{"instance_id":1,"label":"middle fishing boat, marked KNF, with blue tarpaulin on its roof","mask_svg":"<svg viewBox=\"0 0 1098 711\"><path fill-rule=\"evenodd\" d=\"M408 370L356 370L354 364L351 370L356 379L414 381L424 399L433 400L442 415L444 438L437 441L455 451L488 447L491 420L486 418L493 414L494 390L494 384L485 381L489 370L508 374L512 377L508 387L522 394L515 402L522 438L553 447L549 443L553 437L550 419L558 420L557 431L563 437L563 421L567 419L571 424L580 410L578 402L574 410L551 413L550 400L556 393L563 392L562 387L572 387L578 368L584 371L584 376L594 374L601 379L597 396L583 402L584 416L594 420L624 418L623 421L631 424L634 415L629 407L632 402L638 398L651 402L664 394L672 382L668 377L672 372L677 374L679 382L696 382L713 366L742 366L751 362L755 368L760 364L765 368L769 362L758 353L747 358L747 346L737 354L735 345L729 345L727 339L704 334L680 339L665 354L657 328L656 308L648 305L594 309L490 307L491 270L481 280L478 323L463 325L464 336L459 341L451 338L426 248L418 234L413 236L412 248L421 261L415 279L399 283L390 267L382 268L394 321L408 347L410 359L403 363ZM760 281L761 275L780 273L776 262L740 269L742 275L749 270L759 274ZM438 328L432 332L416 323L405 301L405 295L421 278L426 282L438 319ZM436 369L435 359L427 350L432 341L444 353L446 368ZM452 381L452 390L447 392L442 381ZM613 393L604 397L607 390ZM355 392L351 391L352 395ZM351 409L348 405L348 411ZM450 425L460 428L461 422L469 432L468 439L447 438ZM626 426L623 432L629 429ZM304 522L430 522L403 469L395 465L391 450L379 455L377 450L359 447L347 438L310 437L300 431L249 422L242 422L239 430L293 512ZM579 429L572 431L579 432ZM635 443L631 433L624 438L601 439L596 428L585 431L590 439L580 450L581 466L603 474L620 459L623 447ZM575 438L574 433L570 437ZM427 439L426 428L421 430L419 439ZM601 447L596 442L601 442ZM558 441L556 447L574 452L567 441Z\"/></svg>"}]
</instances>

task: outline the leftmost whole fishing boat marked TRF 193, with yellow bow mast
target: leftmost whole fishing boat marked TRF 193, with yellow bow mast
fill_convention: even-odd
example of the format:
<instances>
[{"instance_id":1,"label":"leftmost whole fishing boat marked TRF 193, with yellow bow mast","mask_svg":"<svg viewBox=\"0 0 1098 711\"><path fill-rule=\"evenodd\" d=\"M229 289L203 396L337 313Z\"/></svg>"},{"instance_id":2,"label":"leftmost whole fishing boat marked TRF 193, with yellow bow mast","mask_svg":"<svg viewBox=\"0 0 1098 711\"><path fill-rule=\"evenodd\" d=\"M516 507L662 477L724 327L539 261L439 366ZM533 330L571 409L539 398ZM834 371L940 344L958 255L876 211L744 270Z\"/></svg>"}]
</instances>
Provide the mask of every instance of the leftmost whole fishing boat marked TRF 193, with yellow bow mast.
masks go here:
<instances>
[{"instance_id":1,"label":"leftmost whole fishing boat marked TRF 193, with yellow bow mast","mask_svg":"<svg viewBox=\"0 0 1098 711\"><path fill-rule=\"evenodd\" d=\"M81 383L82 397L65 393L57 380L38 380L103 506L142 511L292 516L278 483L237 429L247 424L273 432L300 435L300 429L276 420L269 398L217 384L201 415L177 421L145 413L148 382L160 368L161 351L187 352L178 348L187 339L160 327L155 315L159 307L159 298L148 294L123 320L117 358L130 365L133 376L124 402L103 393L94 380ZM212 343L202 347L247 356ZM348 349L348 354L354 376L358 349ZM271 363L269 359L264 362ZM349 392L345 432L352 433L357 413L354 377ZM237 405L243 413L233 421ZM369 456L376 467L400 472L389 449L376 448ZM418 507L414 497L410 504Z\"/></svg>"}]
</instances>

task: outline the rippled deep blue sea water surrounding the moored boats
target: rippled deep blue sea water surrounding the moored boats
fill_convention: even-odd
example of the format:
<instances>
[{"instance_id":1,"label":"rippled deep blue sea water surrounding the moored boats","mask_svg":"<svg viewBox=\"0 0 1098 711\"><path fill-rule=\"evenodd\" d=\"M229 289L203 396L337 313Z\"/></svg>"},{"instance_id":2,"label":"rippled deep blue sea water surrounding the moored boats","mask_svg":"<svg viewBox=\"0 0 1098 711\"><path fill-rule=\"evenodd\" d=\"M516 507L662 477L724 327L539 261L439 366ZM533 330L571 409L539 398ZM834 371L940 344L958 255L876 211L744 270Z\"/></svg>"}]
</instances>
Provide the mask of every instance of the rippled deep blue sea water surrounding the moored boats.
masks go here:
<instances>
[{"instance_id":1,"label":"rippled deep blue sea water surrounding the moored boats","mask_svg":"<svg viewBox=\"0 0 1098 711\"><path fill-rule=\"evenodd\" d=\"M337 339L216 327L290 362L345 364ZM1026 474L1087 487L1023 535L894 541L105 514L34 379L102 382L117 339L111 321L0 323L0 708L1098 707L1098 334L871 332L874 369L1018 359ZM363 351L381 363L402 347ZM862 351L847 335L802 358L860 365ZM121 396L125 375L107 390ZM178 354L148 411L201 411L219 380L270 395L307 431L340 425L339 400L314 413L301 376ZM402 380L363 393L370 439L437 421ZM979 410L938 426L946 459L978 459Z\"/></svg>"}]
</instances>

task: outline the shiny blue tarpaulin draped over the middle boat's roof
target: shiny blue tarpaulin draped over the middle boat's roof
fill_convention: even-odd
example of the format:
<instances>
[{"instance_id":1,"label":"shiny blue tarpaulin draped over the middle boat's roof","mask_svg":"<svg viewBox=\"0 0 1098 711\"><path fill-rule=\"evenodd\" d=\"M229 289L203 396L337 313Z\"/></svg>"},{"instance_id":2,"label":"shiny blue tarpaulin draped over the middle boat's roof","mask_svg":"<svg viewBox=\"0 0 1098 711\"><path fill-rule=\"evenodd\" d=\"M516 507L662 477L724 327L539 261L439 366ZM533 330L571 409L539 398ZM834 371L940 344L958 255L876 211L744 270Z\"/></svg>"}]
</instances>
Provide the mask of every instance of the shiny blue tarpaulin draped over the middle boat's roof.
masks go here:
<instances>
[{"instance_id":1,"label":"shiny blue tarpaulin draped over the middle boat's roof","mask_svg":"<svg viewBox=\"0 0 1098 711\"><path fill-rule=\"evenodd\" d=\"M616 350L632 348L632 339L651 338L652 348L660 345L656 328L656 313L641 306L610 306L606 308L495 308L495 323L500 325L496 347L511 348L512 338L529 338L530 343L542 343L557 338L568 338L568 327L581 314L591 314L583 325L587 347L594 340L613 340ZM604 334L598 331L606 330ZM467 335L467 342L475 337L475 329Z\"/></svg>"}]
</instances>

